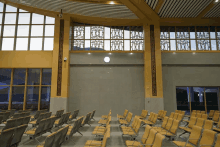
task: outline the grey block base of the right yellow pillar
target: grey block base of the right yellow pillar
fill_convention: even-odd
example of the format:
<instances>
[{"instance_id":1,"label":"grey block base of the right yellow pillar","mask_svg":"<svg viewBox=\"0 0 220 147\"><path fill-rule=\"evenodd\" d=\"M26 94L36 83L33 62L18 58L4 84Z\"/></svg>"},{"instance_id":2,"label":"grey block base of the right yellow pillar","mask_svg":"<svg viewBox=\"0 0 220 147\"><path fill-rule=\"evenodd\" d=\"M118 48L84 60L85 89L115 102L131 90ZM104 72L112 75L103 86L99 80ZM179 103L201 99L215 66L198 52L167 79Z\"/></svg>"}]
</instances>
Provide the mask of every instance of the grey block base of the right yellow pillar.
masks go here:
<instances>
[{"instance_id":1,"label":"grey block base of the right yellow pillar","mask_svg":"<svg viewBox=\"0 0 220 147\"><path fill-rule=\"evenodd\" d=\"M163 98L145 98L145 110L154 113L164 110Z\"/></svg>"}]
</instances>

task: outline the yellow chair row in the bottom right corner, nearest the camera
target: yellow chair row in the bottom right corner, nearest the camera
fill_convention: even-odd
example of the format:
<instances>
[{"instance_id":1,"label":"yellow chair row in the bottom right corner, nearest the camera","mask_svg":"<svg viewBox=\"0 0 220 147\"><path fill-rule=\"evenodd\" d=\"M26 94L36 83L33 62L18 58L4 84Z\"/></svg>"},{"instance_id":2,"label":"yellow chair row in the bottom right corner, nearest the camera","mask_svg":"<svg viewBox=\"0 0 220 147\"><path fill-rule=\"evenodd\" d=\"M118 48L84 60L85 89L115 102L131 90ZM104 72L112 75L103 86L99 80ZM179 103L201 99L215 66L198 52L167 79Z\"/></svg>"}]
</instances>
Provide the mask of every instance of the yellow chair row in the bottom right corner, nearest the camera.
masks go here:
<instances>
[{"instance_id":1,"label":"yellow chair row in the bottom right corner, nearest the camera","mask_svg":"<svg viewBox=\"0 0 220 147\"><path fill-rule=\"evenodd\" d=\"M216 139L217 138L217 139ZM220 134L199 126L193 126L187 141L172 141L178 147L219 147Z\"/></svg>"}]
</instances>

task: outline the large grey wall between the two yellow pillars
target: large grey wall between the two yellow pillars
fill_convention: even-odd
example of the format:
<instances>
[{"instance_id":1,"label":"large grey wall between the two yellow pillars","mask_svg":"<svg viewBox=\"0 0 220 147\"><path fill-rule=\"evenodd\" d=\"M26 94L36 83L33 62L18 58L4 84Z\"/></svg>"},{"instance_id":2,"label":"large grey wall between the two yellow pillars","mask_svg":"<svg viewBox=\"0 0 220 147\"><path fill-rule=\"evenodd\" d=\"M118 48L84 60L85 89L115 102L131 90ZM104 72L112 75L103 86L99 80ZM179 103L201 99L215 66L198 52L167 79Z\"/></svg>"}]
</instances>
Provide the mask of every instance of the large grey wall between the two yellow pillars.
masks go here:
<instances>
[{"instance_id":1,"label":"large grey wall between the two yellow pillars","mask_svg":"<svg viewBox=\"0 0 220 147\"><path fill-rule=\"evenodd\" d=\"M111 58L105 64L105 56ZM124 109L140 115L144 109L143 54L79 53L70 55L69 111L79 115L96 109L95 116L123 114ZM91 63L91 64L90 64Z\"/></svg>"}]
</instances>

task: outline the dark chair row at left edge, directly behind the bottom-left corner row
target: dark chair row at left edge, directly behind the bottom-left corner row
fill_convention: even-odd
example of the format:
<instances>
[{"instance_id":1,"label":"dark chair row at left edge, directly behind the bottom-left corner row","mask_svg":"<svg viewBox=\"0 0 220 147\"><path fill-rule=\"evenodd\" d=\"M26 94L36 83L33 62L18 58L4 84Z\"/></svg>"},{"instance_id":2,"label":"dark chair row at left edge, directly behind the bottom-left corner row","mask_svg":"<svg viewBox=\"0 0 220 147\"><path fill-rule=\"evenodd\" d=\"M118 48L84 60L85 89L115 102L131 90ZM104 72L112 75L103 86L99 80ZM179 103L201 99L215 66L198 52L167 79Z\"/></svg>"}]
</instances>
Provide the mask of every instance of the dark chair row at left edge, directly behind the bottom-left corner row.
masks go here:
<instances>
[{"instance_id":1,"label":"dark chair row at left edge, directly behind the bottom-left corner row","mask_svg":"<svg viewBox=\"0 0 220 147\"><path fill-rule=\"evenodd\" d=\"M28 124L29 121L30 121L30 116L20 117L20 118L15 118L15 119L8 119L4 128L0 130L0 132L10 129L10 128L18 127L23 124Z\"/></svg>"}]
</instances>

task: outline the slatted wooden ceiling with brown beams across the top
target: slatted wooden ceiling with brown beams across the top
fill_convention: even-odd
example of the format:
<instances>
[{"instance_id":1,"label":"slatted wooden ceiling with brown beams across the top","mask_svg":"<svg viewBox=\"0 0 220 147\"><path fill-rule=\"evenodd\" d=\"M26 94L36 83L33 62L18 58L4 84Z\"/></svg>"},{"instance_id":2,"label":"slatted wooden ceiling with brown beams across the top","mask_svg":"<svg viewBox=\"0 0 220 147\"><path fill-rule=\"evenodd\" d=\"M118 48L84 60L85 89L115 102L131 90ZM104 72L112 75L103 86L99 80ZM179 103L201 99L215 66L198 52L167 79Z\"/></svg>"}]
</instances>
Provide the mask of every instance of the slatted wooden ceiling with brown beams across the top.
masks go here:
<instances>
[{"instance_id":1,"label":"slatted wooden ceiling with brown beams across the top","mask_svg":"<svg viewBox=\"0 0 220 147\"><path fill-rule=\"evenodd\" d=\"M220 2L215 0L0 0L65 14L80 22L121 25L220 25ZM114 2L114 4L111 4ZM85 19L88 19L86 21ZM107 20L108 19L108 20Z\"/></svg>"}]
</instances>

